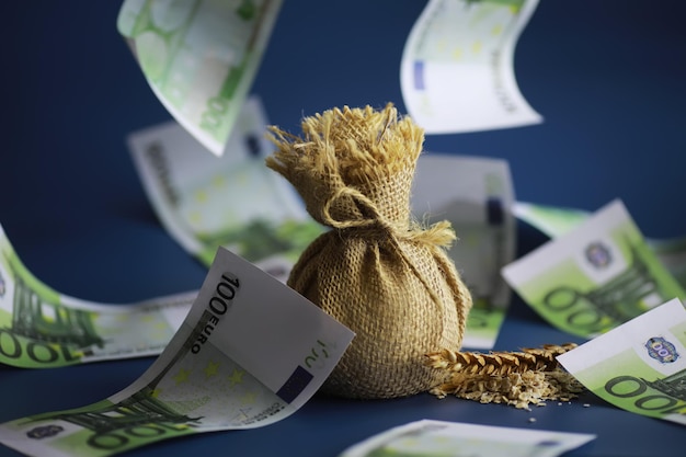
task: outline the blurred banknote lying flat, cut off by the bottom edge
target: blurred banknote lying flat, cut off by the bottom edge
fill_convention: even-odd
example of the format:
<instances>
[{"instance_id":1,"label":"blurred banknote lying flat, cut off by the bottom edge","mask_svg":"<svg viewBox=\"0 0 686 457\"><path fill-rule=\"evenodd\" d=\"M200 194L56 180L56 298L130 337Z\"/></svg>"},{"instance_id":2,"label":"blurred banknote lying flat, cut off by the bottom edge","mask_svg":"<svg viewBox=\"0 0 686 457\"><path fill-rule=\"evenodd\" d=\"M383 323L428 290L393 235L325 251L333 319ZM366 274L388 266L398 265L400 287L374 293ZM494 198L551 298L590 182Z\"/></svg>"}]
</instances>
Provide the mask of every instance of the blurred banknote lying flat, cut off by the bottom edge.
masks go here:
<instances>
[{"instance_id":1,"label":"blurred banknote lying flat, cut off by the bottom edge","mask_svg":"<svg viewBox=\"0 0 686 457\"><path fill-rule=\"evenodd\" d=\"M340 457L554 457L595 435L423 420L390 429Z\"/></svg>"}]
</instances>

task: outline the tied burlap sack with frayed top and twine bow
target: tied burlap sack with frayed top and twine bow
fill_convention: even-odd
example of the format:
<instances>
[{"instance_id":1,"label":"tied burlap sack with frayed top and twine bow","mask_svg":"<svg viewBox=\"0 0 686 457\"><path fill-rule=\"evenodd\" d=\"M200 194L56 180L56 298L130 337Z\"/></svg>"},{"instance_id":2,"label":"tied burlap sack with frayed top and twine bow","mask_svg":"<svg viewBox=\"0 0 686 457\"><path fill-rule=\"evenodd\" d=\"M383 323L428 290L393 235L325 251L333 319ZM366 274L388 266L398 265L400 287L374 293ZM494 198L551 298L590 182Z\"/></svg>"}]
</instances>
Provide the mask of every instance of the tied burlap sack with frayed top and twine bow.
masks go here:
<instances>
[{"instance_id":1,"label":"tied burlap sack with frayed top and twine bow","mask_svg":"<svg viewBox=\"0 0 686 457\"><path fill-rule=\"evenodd\" d=\"M348 398L426 391L441 374L425 354L460 346L471 296L445 253L455 239L449 222L413 222L424 133L391 104L329 110L301 127L302 137L271 127L277 148L266 164L332 230L305 250L288 285L356 333L322 390Z\"/></svg>"}]
</instances>

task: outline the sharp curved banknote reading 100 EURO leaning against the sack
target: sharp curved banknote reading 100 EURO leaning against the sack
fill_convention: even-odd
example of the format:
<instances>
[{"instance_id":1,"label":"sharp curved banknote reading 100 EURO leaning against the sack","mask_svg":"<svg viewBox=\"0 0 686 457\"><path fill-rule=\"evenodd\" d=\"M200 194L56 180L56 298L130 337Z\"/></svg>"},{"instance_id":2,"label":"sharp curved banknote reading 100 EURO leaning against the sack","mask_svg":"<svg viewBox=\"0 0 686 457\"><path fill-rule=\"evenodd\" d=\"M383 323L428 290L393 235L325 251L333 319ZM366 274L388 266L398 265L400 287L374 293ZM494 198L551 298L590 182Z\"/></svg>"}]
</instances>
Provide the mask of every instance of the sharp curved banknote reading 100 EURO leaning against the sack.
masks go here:
<instances>
[{"instance_id":1,"label":"sharp curved banknote reading 100 EURO leaning against the sack","mask_svg":"<svg viewBox=\"0 0 686 457\"><path fill-rule=\"evenodd\" d=\"M100 402L0 424L34 457L103 457L161 439L268 425L296 412L353 333L219 249L187 317L140 378Z\"/></svg>"}]
</instances>

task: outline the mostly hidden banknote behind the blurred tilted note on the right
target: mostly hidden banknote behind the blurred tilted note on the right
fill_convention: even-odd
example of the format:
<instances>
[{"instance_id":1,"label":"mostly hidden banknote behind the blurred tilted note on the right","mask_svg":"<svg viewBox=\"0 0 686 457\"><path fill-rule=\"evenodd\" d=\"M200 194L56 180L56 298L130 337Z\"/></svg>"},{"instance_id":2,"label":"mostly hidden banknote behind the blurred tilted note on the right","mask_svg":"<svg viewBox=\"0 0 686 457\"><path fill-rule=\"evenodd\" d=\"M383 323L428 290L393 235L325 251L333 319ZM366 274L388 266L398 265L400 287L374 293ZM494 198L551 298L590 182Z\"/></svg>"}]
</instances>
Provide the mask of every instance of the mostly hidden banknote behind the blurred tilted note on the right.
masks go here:
<instances>
[{"instance_id":1,"label":"mostly hidden banknote behind the blurred tilted note on the right","mask_svg":"<svg viewBox=\"0 0 686 457\"><path fill-rule=\"evenodd\" d=\"M563 208L516 202L514 215L550 238L558 238L586 220L591 214L583 209ZM686 288L686 237L645 238L660 262Z\"/></svg>"}]
</instances>

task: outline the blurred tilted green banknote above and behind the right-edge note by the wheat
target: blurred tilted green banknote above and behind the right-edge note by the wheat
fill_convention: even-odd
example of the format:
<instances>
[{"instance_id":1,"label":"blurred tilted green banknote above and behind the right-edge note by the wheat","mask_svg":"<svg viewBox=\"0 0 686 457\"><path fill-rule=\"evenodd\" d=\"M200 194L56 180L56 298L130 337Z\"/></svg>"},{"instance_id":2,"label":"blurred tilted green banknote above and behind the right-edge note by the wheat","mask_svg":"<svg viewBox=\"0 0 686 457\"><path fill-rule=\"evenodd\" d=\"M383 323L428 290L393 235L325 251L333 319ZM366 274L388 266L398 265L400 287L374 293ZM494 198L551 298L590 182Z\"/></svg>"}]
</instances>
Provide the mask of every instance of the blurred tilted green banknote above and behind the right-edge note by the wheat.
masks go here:
<instances>
[{"instance_id":1,"label":"blurred tilted green banknote above and behind the right-edge note by the wheat","mask_svg":"<svg viewBox=\"0 0 686 457\"><path fill-rule=\"evenodd\" d=\"M585 338L686 297L620 201L506 265L502 274L546 320Z\"/></svg>"}]
</instances>

